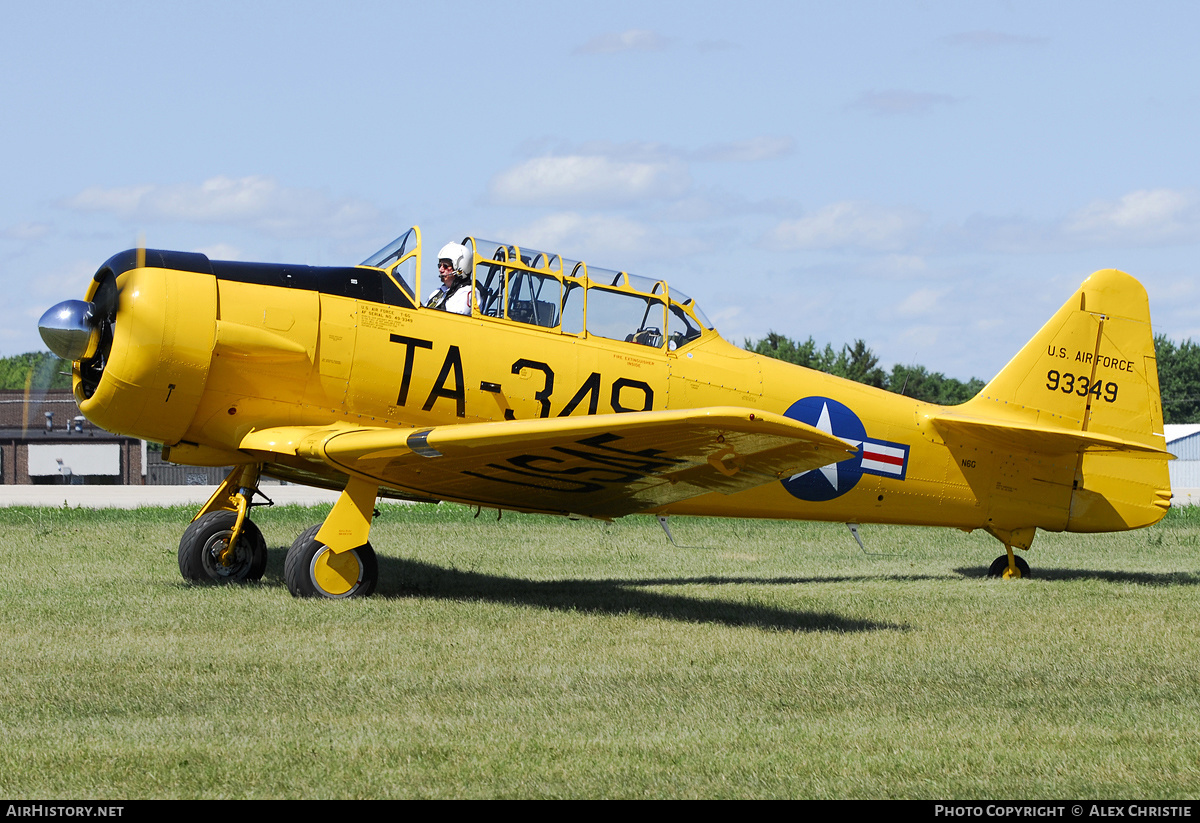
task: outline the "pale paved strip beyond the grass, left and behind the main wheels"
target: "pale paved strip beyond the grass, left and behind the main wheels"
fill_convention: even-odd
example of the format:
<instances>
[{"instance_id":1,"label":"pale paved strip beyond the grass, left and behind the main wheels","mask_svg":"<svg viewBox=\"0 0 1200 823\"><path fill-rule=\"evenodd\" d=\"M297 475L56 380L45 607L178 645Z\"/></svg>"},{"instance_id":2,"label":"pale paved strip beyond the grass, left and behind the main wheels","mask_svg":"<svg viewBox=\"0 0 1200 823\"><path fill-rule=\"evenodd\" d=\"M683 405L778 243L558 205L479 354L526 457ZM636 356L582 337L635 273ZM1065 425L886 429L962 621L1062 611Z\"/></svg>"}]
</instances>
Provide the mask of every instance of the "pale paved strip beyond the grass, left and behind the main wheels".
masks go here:
<instances>
[{"instance_id":1,"label":"pale paved strip beyond the grass, left and behind the main wheels","mask_svg":"<svg viewBox=\"0 0 1200 823\"><path fill-rule=\"evenodd\" d=\"M0 486L0 506L202 506L215 491L216 486ZM263 492L277 505L301 506L332 504L338 494L324 488L292 485L264 486Z\"/></svg>"}]
</instances>

